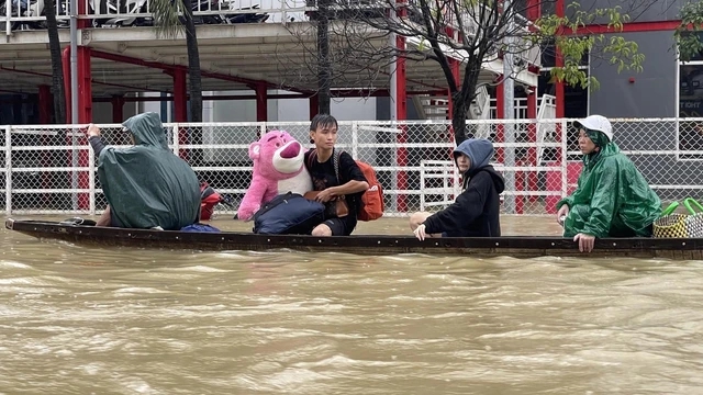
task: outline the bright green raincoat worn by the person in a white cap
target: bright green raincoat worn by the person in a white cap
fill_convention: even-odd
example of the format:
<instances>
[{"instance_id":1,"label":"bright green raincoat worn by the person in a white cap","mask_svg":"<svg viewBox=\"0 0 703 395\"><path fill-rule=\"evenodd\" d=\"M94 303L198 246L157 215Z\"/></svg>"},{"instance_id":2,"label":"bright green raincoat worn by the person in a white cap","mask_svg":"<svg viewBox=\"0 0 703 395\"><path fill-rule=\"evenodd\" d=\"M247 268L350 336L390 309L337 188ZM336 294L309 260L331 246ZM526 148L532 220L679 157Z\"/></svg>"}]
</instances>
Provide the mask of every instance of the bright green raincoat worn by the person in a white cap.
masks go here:
<instances>
[{"instance_id":1,"label":"bright green raincoat worn by the person in a white cap","mask_svg":"<svg viewBox=\"0 0 703 395\"><path fill-rule=\"evenodd\" d=\"M598 238L649 237L650 225L661 213L659 198L615 143L583 157L577 190L557 208L563 204L569 206L565 237L580 233Z\"/></svg>"}]
</instances>

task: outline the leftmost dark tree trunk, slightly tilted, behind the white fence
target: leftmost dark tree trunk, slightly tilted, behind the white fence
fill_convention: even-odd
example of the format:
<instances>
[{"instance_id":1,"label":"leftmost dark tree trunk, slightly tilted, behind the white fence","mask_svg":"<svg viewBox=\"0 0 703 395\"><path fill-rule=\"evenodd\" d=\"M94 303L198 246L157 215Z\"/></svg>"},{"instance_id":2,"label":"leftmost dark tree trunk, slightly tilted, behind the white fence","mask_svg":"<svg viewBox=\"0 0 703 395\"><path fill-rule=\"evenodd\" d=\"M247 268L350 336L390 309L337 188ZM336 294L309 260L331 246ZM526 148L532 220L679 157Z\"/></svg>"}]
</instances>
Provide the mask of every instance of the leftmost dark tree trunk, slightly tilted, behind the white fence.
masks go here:
<instances>
[{"instance_id":1,"label":"leftmost dark tree trunk, slightly tilted, behind the white fence","mask_svg":"<svg viewBox=\"0 0 703 395\"><path fill-rule=\"evenodd\" d=\"M65 124L71 120L66 119L66 91L64 89L64 67L62 63L62 44L58 41L58 24L56 22L56 2L44 0L46 14L46 31L48 33L48 49L52 58L52 90L54 97L54 123Z\"/></svg>"}]
</instances>

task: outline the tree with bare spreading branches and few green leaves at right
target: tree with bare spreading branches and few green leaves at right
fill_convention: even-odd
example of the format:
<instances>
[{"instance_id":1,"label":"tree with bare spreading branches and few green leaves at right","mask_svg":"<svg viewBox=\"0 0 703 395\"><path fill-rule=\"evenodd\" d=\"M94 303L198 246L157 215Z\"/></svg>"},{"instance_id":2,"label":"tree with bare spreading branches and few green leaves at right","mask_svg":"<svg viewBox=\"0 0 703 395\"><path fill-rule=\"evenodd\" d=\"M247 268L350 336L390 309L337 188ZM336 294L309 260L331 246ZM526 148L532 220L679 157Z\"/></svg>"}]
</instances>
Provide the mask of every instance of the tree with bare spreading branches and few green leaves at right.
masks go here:
<instances>
[{"instance_id":1,"label":"tree with bare spreading branches and few green leaves at right","mask_svg":"<svg viewBox=\"0 0 703 395\"><path fill-rule=\"evenodd\" d=\"M559 48L565 66L553 69L553 75L571 84L595 86L596 81L578 67L589 53L603 54L620 69L640 69L644 56L638 54L635 43L620 36L571 33L591 23L622 29L622 24L631 20L629 10L641 14L657 0L611 2L617 4L590 10L579 9L574 2L567 16L546 14L529 22L526 19L529 13L536 8L554 10L556 0L507 3L503 0L309 0L309 7L317 7L309 13L309 27L289 26L297 43L305 48L304 59L299 65L291 65L290 57L281 56L281 59L287 70L298 67L319 75L321 67L326 68L331 87L366 88L367 91L388 86L389 66L394 57L423 65L434 63L434 75L444 77L445 89L453 100L453 126L460 143L466 137L466 117L471 116L469 108L479 82L516 79L529 65L540 65L540 52L545 48L547 52ZM326 27L325 19L330 22ZM321 54L320 43L311 38L317 29L327 30L328 54ZM391 42L395 36L405 40L404 47ZM509 42L513 44L507 46ZM514 55L511 72L489 77L491 72L486 70L486 65L501 60L505 54ZM458 78L454 75L453 61L461 64ZM300 72L298 78L304 75L308 74ZM286 76L291 72L287 71ZM311 81L300 82L313 88Z\"/></svg>"}]
</instances>

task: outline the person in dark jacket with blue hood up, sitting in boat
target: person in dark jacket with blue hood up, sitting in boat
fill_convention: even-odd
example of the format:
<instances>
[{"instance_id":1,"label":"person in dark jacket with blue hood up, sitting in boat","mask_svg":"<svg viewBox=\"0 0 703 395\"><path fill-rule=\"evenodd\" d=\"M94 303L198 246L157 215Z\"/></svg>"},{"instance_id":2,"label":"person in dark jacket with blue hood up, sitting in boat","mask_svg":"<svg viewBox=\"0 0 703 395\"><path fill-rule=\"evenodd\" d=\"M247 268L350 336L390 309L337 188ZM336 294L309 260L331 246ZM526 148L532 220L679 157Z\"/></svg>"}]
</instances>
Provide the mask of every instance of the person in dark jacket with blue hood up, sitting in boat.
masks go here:
<instances>
[{"instance_id":1,"label":"person in dark jacket with blue hood up, sitting in boat","mask_svg":"<svg viewBox=\"0 0 703 395\"><path fill-rule=\"evenodd\" d=\"M425 237L499 237L500 194L503 177L489 161L493 144L487 139L467 139L454 150L454 160L462 174L464 191L447 208L431 214L417 212L410 228L420 240Z\"/></svg>"}]
</instances>

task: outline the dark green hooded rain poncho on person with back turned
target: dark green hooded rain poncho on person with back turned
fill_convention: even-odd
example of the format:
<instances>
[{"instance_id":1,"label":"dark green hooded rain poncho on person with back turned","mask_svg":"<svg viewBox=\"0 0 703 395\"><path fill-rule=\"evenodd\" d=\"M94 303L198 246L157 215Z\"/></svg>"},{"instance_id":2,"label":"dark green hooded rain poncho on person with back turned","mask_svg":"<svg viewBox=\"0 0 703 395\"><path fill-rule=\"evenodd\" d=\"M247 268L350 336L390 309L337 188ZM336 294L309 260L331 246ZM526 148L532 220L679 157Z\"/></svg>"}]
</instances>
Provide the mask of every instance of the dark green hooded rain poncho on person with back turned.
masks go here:
<instances>
[{"instance_id":1,"label":"dark green hooded rain poncho on person with back turned","mask_svg":"<svg viewBox=\"0 0 703 395\"><path fill-rule=\"evenodd\" d=\"M178 230L198 221L200 183L168 148L159 115L144 113L122 124L134 136L130 148L100 151L98 177L113 226Z\"/></svg>"}]
</instances>

